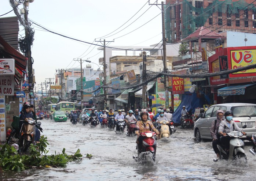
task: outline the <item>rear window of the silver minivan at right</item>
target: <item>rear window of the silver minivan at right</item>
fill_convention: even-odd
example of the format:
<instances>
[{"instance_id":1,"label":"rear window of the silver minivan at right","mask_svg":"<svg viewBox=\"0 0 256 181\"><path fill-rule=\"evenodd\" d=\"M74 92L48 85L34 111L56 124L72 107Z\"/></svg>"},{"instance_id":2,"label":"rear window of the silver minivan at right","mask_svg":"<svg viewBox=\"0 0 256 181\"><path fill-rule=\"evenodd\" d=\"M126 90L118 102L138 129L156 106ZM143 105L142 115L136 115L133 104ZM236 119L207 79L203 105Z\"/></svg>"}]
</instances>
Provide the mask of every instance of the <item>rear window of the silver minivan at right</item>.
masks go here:
<instances>
[{"instance_id":1,"label":"rear window of the silver minivan at right","mask_svg":"<svg viewBox=\"0 0 256 181\"><path fill-rule=\"evenodd\" d=\"M256 106L246 105L246 106L233 106L231 108L233 111L233 117L255 117L256 116Z\"/></svg>"}]
</instances>

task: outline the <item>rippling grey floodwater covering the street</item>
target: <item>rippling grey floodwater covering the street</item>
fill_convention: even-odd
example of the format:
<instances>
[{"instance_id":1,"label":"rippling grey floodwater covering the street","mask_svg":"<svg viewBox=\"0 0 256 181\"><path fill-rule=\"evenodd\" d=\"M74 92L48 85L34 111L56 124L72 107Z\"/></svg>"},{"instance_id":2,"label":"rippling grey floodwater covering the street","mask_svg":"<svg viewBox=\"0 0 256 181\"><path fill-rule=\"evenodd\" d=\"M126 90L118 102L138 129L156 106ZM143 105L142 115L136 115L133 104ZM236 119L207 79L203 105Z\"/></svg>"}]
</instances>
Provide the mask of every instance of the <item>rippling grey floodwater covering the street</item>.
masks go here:
<instances>
[{"instance_id":1,"label":"rippling grey floodwater covering the street","mask_svg":"<svg viewBox=\"0 0 256 181\"><path fill-rule=\"evenodd\" d=\"M117 134L109 128L91 128L89 125L72 125L70 121L41 121L47 136L48 154L68 154L80 149L81 154L92 154L92 159L70 162L65 168L30 169L22 172L2 171L2 181L8 180L142 180L142 181L248 181L255 180L256 157L249 153L252 143L246 142L244 163L213 162L212 142L195 143L193 129L177 128L168 139L157 140L156 161L138 163L136 137Z\"/></svg>"}]
</instances>

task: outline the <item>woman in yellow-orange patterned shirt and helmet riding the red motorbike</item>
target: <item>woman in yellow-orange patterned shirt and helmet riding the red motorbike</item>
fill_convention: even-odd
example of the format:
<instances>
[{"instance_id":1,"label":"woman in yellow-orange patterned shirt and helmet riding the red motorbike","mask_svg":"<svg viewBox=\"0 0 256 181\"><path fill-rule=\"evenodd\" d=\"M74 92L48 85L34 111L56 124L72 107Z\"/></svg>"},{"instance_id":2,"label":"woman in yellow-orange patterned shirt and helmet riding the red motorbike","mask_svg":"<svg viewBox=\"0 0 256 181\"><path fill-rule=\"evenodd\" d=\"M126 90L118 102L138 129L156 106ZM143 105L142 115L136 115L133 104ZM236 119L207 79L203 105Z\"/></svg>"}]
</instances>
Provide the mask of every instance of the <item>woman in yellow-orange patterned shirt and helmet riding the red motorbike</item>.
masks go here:
<instances>
[{"instance_id":1,"label":"woman in yellow-orange patterned shirt and helmet riding the red motorbike","mask_svg":"<svg viewBox=\"0 0 256 181\"><path fill-rule=\"evenodd\" d=\"M138 131L135 131L137 135L140 135L140 133L143 133L145 131L154 131L159 135L159 131L154 127L151 121L149 121L147 118L149 117L149 113L146 111L140 112L141 121L138 121L136 123L136 127L139 129ZM139 136L137 139L137 144L140 146L142 145L143 136Z\"/></svg>"}]
</instances>

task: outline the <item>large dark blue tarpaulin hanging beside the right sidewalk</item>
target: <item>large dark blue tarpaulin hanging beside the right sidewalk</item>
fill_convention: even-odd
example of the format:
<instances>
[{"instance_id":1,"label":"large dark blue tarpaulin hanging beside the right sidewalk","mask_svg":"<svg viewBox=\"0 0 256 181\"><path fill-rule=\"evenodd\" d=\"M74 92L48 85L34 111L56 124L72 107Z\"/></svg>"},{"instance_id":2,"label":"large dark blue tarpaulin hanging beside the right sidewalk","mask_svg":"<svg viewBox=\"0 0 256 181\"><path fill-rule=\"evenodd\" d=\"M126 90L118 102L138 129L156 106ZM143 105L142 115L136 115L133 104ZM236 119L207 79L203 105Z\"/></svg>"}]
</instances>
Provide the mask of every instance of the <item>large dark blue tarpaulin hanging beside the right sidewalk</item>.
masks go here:
<instances>
[{"instance_id":1,"label":"large dark blue tarpaulin hanging beside the right sidewalk","mask_svg":"<svg viewBox=\"0 0 256 181\"><path fill-rule=\"evenodd\" d=\"M182 101L175 112L172 114L173 122L180 124L182 106L186 106L187 111L195 112L195 108L202 108L204 105L204 98L198 98L196 93L183 94Z\"/></svg>"}]
</instances>

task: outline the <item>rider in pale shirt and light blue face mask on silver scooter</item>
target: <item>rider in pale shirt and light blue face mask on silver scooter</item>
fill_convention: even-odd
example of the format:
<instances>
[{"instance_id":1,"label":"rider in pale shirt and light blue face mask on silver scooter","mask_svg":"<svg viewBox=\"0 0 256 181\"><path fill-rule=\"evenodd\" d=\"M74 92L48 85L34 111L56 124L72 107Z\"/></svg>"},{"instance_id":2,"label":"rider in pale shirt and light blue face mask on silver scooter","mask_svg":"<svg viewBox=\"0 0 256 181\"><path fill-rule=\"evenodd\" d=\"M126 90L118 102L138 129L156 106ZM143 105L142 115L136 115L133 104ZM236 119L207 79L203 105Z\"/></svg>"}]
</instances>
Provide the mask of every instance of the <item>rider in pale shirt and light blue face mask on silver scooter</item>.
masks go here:
<instances>
[{"instance_id":1,"label":"rider in pale shirt and light blue face mask on silver scooter","mask_svg":"<svg viewBox=\"0 0 256 181\"><path fill-rule=\"evenodd\" d=\"M242 129L238 127L238 125L233 121L233 112L231 110L227 110L224 113L225 120L220 122L220 126L218 129L218 133L220 135L220 143L224 146L224 150L228 151L229 150L229 141L230 137L226 136L227 133L230 133L232 131L239 131L243 133L243 135L246 135L245 132L242 132Z\"/></svg>"}]
</instances>

